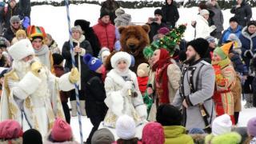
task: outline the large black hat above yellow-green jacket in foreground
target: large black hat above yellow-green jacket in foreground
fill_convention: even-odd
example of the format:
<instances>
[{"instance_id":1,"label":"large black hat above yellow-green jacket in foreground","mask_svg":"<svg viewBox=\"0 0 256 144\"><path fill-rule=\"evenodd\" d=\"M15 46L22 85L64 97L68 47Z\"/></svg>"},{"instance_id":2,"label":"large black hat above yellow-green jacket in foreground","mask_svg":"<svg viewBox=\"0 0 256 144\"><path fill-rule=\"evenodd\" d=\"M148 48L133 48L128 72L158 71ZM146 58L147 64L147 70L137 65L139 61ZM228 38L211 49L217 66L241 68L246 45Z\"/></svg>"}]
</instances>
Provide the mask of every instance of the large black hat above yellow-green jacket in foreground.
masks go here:
<instances>
[{"instance_id":1,"label":"large black hat above yellow-green jacket in foreground","mask_svg":"<svg viewBox=\"0 0 256 144\"><path fill-rule=\"evenodd\" d=\"M162 126L180 126L182 124L182 113L170 104L163 104L158 107L157 122Z\"/></svg>"}]
</instances>

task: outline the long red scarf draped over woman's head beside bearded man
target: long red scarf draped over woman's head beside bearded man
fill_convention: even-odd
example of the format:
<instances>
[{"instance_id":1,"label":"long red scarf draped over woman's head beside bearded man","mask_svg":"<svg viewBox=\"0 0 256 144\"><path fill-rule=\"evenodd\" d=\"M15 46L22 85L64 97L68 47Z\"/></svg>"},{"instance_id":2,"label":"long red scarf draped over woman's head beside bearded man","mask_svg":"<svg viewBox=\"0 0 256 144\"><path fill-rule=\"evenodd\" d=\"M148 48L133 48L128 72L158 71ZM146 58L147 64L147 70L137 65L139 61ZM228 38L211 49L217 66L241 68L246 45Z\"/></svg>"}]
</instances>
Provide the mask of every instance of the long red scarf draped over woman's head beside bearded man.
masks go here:
<instances>
[{"instance_id":1,"label":"long red scarf draped over woman's head beside bearded man","mask_svg":"<svg viewBox=\"0 0 256 144\"><path fill-rule=\"evenodd\" d=\"M152 67L153 71L155 71L155 83L159 103L170 103L167 75L167 68L170 64L172 62L170 62L169 52L165 49L160 49L159 60Z\"/></svg>"}]
</instances>

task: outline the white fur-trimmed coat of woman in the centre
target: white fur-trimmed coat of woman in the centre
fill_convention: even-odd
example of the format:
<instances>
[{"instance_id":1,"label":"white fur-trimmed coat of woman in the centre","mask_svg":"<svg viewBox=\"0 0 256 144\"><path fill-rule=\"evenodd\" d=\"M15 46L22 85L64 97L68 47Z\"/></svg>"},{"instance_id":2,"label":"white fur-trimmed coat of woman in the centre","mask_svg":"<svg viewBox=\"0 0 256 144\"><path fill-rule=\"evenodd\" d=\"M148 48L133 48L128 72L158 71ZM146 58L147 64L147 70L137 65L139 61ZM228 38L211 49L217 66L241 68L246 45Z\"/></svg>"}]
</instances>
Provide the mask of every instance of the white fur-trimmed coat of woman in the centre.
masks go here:
<instances>
[{"instance_id":1,"label":"white fur-trimmed coat of woman in the centre","mask_svg":"<svg viewBox=\"0 0 256 144\"><path fill-rule=\"evenodd\" d=\"M135 98L128 96L128 93L122 93L122 87L126 81L115 70L110 70L106 75L105 103L109 110L104 119L104 126L115 127L115 122L122 114L127 114L134 118L137 125L146 119L146 105L143 103L142 94L138 89L137 76L131 70L129 70L128 74L130 74L130 79L134 83L134 91L138 94Z\"/></svg>"}]
</instances>

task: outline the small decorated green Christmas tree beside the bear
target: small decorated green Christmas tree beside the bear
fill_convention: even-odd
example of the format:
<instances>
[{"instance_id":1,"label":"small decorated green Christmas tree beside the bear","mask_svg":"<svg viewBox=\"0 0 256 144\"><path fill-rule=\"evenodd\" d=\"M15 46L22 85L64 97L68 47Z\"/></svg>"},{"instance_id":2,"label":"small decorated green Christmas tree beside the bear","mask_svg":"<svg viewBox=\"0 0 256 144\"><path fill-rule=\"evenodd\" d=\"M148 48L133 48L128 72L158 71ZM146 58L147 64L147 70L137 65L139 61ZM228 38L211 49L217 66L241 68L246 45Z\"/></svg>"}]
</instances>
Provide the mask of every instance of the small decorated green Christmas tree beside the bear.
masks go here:
<instances>
[{"instance_id":1,"label":"small decorated green Christmas tree beside the bear","mask_svg":"<svg viewBox=\"0 0 256 144\"><path fill-rule=\"evenodd\" d=\"M174 29L170 30L163 38L152 42L149 46L146 46L143 50L143 54L146 58L150 58L154 50L164 48L169 51L170 56L174 54L175 46L179 44L182 39L183 33L186 30L186 25L179 25Z\"/></svg>"}]
</instances>

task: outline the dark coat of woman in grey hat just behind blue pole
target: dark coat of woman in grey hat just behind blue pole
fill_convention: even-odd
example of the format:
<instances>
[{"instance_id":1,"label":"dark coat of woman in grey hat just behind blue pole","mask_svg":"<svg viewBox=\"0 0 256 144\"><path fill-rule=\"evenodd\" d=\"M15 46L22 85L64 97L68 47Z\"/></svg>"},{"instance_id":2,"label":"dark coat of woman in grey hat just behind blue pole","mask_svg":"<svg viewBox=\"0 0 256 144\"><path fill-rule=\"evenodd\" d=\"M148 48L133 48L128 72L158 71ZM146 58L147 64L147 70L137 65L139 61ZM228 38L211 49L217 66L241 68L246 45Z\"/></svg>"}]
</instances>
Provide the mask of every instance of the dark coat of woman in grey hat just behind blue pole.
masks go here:
<instances>
[{"instance_id":1,"label":"dark coat of woman in grey hat just behind blue pole","mask_svg":"<svg viewBox=\"0 0 256 144\"><path fill-rule=\"evenodd\" d=\"M73 42L74 46L77 46L78 44L76 42ZM84 50L86 50L86 54L93 54L93 50L91 49L90 42L84 40L80 43L80 47L82 47ZM71 60L71 54L70 54L70 41L65 42L62 47L62 56L64 59L66 59L65 67L69 70L72 69L72 60ZM88 66L82 61L82 56L78 56L76 54L74 56L76 67L78 67L78 58L80 58L81 62L81 86L84 88L85 82L82 80L86 78L86 75L88 74Z\"/></svg>"}]
</instances>

